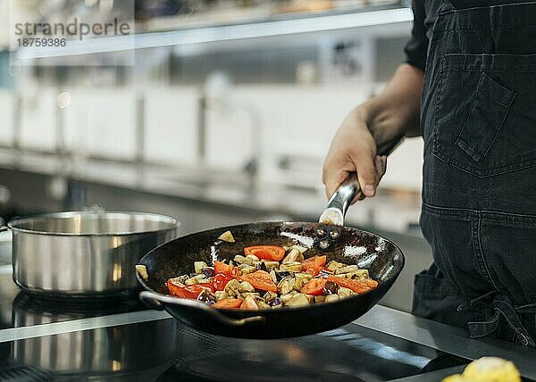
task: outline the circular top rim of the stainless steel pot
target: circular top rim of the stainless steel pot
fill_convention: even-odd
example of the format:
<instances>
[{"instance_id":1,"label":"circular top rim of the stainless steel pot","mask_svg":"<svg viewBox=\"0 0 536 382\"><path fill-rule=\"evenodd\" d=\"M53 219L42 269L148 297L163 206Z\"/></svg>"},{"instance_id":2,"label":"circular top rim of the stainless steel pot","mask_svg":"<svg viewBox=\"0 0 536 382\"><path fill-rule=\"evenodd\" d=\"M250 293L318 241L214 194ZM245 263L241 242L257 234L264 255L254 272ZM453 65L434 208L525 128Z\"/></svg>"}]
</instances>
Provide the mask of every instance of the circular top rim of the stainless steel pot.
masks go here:
<instances>
[{"instance_id":1,"label":"circular top rim of the stainless steel pot","mask_svg":"<svg viewBox=\"0 0 536 382\"><path fill-rule=\"evenodd\" d=\"M52 231L43 231L38 229L30 229L30 228L21 228L17 227L18 225L28 223L31 220L46 220L46 219L70 219L73 217L84 217L85 216L95 216L95 215L102 215L106 217L112 217L112 216L138 216L139 218L152 218L153 220L160 220L164 224L168 224L169 227L165 228L158 228L158 229L149 229L149 230L136 230L136 231L124 231L124 232L94 232L94 233L76 233L76 232L52 232ZM7 223L7 227L9 227L13 232L17 233L28 233L28 234L36 234L36 235L45 235L45 236L53 236L53 237L128 237L128 236L134 236L134 235L146 235L146 234L154 234L158 232L167 232L171 231L173 229L177 229L180 227L180 222L176 220L175 218L172 218L168 215L162 215L159 213L152 213L152 212L126 212L126 211L105 211L105 212L95 212L95 211L67 211L67 212L48 212L48 213L40 213L36 215L30 215L25 216L22 218L15 218L13 220L10 220Z\"/></svg>"}]
</instances>

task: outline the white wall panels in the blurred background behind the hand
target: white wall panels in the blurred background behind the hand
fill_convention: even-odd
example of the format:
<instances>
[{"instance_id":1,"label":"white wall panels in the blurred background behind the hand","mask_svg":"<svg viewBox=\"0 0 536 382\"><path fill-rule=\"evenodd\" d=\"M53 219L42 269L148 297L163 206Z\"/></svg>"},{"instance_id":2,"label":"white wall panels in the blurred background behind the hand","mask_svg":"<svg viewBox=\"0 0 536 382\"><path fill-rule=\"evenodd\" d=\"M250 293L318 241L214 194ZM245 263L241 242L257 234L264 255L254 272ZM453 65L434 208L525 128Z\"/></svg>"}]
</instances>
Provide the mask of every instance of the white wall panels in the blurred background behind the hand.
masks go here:
<instances>
[{"instance_id":1,"label":"white wall panels in the blurred background behind the hand","mask_svg":"<svg viewBox=\"0 0 536 382\"><path fill-rule=\"evenodd\" d=\"M224 107L209 109L206 118L206 158L213 167L242 169L261 157L261 176L268 181L321 187L322 159L331 137L348 112L363 102L370 88L244 86L230 89ZM24 95L22 146L55 147L57 89ZM75 88L65 109L68 148L88 154L131 160L136 154L136 99L131 88ZM145 153L148 160L192 163L197 153L197 107L194 87L152 88L146 97ZM2 126L10 126L9 94L0 93ZM220 104L221 106L221 104ZM252 118L253 117L253 118ZM260 129L262 144L255 144ZM11 132L0 131L9 141ZM310 158L306 170L292 176L276 168L281 155ZM389 187L418 190L421 183L422 142L408 140L389 157ZM287 179L283 179L287 177ZM292 179L289 179L292 178Z\"/></svg>"}]
</instances>

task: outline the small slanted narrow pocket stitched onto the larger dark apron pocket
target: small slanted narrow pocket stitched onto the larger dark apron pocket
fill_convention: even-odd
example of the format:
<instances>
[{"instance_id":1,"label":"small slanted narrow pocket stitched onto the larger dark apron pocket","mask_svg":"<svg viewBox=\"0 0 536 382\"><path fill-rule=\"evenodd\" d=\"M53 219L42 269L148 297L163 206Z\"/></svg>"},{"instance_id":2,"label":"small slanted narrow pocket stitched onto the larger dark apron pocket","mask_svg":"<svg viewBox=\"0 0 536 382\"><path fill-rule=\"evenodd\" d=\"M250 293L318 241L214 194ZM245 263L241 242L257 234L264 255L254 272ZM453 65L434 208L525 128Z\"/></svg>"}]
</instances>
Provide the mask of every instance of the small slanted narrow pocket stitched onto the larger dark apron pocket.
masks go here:
<instances>
[{"instance_id":1,"label":"small slanted narrow pocket stitched onto the larger dark apron pocket","mask_svg":"<svg viewBox=\"0 0 536 382\"><path fill-rule=\"evenodd\" d=\"M456 145L474 162L482 163L507 118L515 92L482 73L469 117L456 139Z\"/></svg>"}]
</instances>

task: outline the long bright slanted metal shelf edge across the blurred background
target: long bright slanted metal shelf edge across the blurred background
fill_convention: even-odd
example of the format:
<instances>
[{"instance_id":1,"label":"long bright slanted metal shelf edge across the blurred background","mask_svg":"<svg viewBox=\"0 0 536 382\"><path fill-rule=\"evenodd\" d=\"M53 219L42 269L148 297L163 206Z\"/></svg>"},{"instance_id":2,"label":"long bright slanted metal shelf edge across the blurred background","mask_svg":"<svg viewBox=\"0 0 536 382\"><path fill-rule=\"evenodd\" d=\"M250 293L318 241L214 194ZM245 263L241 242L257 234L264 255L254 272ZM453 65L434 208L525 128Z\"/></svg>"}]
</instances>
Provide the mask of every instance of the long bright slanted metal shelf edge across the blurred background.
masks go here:
<instances>
[{"instance_id":1,"label":"long bright slanted metal shelf edge across the blurred background","mask_svg":"<svg viewBox=\"0 0 536 382\"><path fill-rule=\"evenodd\" d=\"M21 48L15 54L21 61L80 54L124 52L160 46L188 46L243 39L281 37L340 29L382 26L413 21L410 8L328 14L312 18L259 21L166 32L149 32L133 36L92 38L68 41L65 47Z\"/></svg>"}]
</instances>

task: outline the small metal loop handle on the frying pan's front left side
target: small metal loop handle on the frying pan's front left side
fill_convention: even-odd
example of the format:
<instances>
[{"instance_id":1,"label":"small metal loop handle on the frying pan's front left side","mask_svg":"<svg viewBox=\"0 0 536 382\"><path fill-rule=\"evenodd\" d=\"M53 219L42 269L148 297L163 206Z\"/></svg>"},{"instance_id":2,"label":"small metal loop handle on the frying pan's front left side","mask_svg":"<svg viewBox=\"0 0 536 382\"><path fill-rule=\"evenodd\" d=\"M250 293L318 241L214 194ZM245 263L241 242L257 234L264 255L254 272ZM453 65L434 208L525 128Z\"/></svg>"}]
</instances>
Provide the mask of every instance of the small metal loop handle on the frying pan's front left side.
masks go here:
<instances>
[{"instance_id":1,"label":"small metal loop handle on the frying pan's front left side","mask_svg":"<svg viewBox=\"0 0 536 382\"><path fill-rule=\"evenodd\" d=\"M246 319L239 319L239 320L231 319L230 317L221 313L217 309L211 308L205 303L198 302L197 300L188 300L185 298L172 297L170 295L162 295L159 293L150 292L148 290L144 290L140 292L139 299L143 303L146 303L149 308L156 309L158 311L162 311L165 304L174 305L174 306L182 306L188 309L197 309L200 311L204 311L213 320L216 320L220 322L222 325L232 327L232 328L243 327L249 322L264 321L263 316L247 317Z\"/></svg>"}]
</instances>

